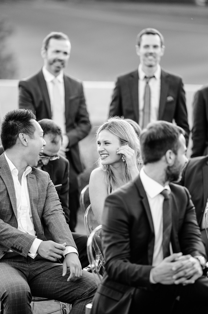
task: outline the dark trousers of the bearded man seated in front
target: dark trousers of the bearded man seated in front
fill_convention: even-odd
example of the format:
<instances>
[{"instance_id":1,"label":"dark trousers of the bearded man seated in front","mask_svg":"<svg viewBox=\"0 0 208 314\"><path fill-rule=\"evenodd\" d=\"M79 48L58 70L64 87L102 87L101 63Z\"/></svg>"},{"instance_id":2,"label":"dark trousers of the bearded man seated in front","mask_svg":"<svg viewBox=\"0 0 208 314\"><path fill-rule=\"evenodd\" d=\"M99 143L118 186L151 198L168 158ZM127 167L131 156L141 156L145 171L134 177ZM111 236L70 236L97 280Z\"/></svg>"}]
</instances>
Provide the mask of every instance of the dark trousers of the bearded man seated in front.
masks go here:
<instances>
[{"instance_id":1,"label":"dark trousers of the bearded man seated in front","mask_svg":"<svg viewBox=\"0 0 208 314\"><path fill-rule=\"evenodd\" d=\"M129 314L207 314L208 279L204 276L194 284L162 285L155 290L137 289Z\"/></svg>"}]
</instances>

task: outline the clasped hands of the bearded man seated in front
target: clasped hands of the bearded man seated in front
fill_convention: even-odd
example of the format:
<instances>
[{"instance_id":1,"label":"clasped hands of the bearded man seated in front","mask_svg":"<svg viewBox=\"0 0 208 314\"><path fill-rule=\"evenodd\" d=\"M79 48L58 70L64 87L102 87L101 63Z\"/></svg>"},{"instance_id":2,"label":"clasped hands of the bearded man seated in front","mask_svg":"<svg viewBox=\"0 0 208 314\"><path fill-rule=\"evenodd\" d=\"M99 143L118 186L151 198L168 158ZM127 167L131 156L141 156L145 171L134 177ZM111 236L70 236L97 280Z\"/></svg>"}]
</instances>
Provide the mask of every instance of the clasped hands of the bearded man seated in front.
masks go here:
<instances>
[{"instance_id":1,"label":"clasped hands of the bearded man seated in front","mask_svg":"<svg viewBox=\"0 0 208 314\"><path fill-rule=\"evenodd\" d=\"M160 284L194 284L202 274L199 261L181 252L165 257L152 270L154 281Z\"/></svg>"}]
</instances>

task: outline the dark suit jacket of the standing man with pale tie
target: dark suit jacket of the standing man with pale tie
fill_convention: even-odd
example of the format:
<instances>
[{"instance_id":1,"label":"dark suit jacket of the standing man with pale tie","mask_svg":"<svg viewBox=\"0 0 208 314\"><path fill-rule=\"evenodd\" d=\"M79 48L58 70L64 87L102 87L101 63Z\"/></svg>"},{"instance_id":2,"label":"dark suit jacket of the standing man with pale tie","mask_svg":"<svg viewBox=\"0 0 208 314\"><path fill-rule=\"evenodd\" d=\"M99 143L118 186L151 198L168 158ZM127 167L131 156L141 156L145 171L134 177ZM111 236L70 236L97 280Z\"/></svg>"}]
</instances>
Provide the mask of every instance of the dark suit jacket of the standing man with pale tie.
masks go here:
<instances>
[{"instance_id":1,"label":"dark suit jacket of the standing man with pale tie","mask_svg":"<svg viewBox=\"0 0 208 314\"><path fill-rule=\"evenodd\" d=\"M69 138L70 167L77 173L83 170L78 143L86 137L91 125L87 112L81 81L63 76L65 89L66 132ZM37 121L51 119L51 105L42 70L19 82L19 108L31 109Z\"/></svg>"}]
</instances>

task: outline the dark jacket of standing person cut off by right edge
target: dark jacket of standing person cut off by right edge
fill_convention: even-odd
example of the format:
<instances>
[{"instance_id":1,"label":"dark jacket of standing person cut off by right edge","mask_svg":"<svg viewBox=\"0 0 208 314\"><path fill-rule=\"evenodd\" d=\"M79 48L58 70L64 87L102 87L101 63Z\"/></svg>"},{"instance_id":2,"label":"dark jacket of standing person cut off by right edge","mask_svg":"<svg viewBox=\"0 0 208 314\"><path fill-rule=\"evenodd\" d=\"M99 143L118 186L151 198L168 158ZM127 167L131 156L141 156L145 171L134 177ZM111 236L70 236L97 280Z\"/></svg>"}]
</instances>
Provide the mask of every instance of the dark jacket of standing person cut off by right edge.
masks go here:
<instances>
[{"instance_id":1,"label":"dark jacket of standing person cut off by right edge","mask_svg":"<svg viewBox=\"0 0 208 314\"><path fill-rule=\"evenodd\" d=\"M193 100L191 157L208 154L208 85L198 90Z\"/></svg>"}]
</instances>

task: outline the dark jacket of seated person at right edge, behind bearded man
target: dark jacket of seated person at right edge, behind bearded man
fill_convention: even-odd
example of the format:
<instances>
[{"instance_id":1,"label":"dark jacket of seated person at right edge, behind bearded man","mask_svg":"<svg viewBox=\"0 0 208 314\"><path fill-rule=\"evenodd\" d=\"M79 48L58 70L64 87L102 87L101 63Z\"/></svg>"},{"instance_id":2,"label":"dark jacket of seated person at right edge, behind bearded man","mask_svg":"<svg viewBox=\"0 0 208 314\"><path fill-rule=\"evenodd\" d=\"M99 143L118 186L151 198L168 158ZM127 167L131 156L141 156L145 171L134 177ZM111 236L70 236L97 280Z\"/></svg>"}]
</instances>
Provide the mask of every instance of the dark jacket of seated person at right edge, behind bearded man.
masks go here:
<instances>
[{"instance_id":1,"label":"dark jacket of seated person at right edge, behind bearded man","mask_svg":"<svg viewBox=\"0 0 208 314\"><path fill-rule=\"evenodd\" d=\"M208 240L204 223L204 215L208 207L208 155L190 158L178 183L190 192L208 256Z\"/></svg>"}]
</instances>

